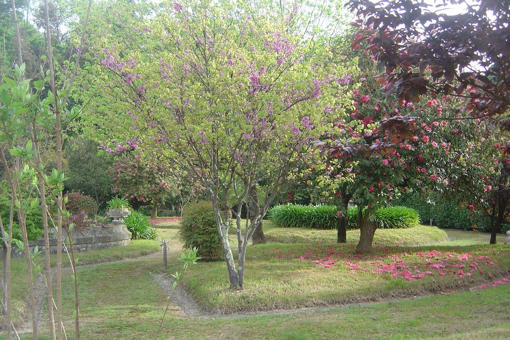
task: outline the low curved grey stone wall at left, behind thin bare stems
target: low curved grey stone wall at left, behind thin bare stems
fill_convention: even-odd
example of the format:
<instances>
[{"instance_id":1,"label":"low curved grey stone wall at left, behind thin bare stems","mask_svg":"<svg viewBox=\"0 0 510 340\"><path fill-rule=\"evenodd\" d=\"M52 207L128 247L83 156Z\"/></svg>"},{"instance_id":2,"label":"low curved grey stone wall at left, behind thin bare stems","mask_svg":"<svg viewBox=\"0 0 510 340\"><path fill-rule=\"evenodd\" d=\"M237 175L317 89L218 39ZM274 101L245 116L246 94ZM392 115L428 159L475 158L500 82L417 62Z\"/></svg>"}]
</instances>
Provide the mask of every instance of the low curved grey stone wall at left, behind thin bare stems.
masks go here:
<instances>
[{"instance_id":1,"label":"low curved grey stone wall at left, behind thin bare stems","mask_svg":"<svg viewBox=\"0 0 510 340\"><path fill-rule=\"evenodd\" d=\"M127 246L131 242L131 232L127 230L124 224L93 226L83 230L74 229L71 233L75 251ZM65 240L67 237L65 231L63 234ZM42 251L44 250L44 239L31 241L29 245L31 249L38 246L39 250ZM49 248L52 253L57 252L56 235L49 236ZM14 255L22 254L16 246L13 247L12 251ZM65 251L65 249L62 251Z\"/></svg>"}]
</instances>

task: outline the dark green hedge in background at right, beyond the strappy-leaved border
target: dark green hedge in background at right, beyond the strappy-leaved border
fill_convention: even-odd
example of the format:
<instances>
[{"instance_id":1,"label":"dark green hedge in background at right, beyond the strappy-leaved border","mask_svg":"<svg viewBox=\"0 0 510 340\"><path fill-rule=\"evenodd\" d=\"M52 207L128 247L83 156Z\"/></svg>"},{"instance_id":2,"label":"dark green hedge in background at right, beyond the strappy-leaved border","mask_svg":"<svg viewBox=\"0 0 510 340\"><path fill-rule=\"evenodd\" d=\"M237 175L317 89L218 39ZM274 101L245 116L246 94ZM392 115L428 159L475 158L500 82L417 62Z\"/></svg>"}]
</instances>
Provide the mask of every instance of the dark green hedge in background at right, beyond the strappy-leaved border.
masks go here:
<instances>
[{"instance_id":1,"label":"dark green hedge in background at right, beyond the strappy-leaved border","mask_svg":"<svg viewBox=\"0 0 510 340\"><path fill-rule=\"evenodd\" d=\"M420 214L422 224L432 224L440 228L490 231L491 222L486 215L473 215L466 206L460 206L455 200L436 197L430 200L418 193L401 195L395 204L411 207ZM510 229L509 223L501 225L501 232Z\"/></svg>"}]
</instances>

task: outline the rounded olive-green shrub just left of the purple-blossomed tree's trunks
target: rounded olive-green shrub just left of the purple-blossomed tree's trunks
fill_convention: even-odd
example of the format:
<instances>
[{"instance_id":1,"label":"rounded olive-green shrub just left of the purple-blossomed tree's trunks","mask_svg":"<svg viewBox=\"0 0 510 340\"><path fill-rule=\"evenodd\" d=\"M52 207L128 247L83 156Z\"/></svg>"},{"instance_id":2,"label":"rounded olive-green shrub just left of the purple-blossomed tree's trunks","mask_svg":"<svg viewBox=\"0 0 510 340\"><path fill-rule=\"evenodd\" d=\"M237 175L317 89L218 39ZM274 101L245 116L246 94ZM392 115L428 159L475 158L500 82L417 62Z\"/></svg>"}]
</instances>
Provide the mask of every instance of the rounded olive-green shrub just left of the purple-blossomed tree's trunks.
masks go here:
<instances>
[{"instance_id":1,"label":"rounded olive-green shrub just left of the purple-blossomed tree's trunks","mask_svg":"<svg viewBox=\"0 0 510 340\"><path fill-rule=\"evenodd\" d=\"M198 248L198 255L205 260L223 258L223 247L218 236L216 217L211 202L200 201L184 208L179 238L184 247Z\"/></svg>"}]
</instances>

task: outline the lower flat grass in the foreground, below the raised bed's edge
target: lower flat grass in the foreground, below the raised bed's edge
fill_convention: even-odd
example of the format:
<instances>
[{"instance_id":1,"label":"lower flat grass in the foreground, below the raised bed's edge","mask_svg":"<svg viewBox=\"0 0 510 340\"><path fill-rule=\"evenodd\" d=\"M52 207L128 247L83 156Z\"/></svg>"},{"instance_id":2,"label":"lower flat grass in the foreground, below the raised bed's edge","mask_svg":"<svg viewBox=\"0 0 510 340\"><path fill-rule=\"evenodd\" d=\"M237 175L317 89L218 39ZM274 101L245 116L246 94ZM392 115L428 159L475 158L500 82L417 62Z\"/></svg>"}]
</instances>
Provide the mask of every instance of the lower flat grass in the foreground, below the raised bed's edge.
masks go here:
<instances>
[{"instance_id":1,"label":"lower flat grass in the foreground, below the raised bed's edge","mask_svg":"<svg viewBox=\"0 0 510 340\"><path fill-rule=\"evenodd\" d=\"M81 334L86 339L153 339L165 294L148 273L157 259L80 269ZM199 272L193 267L189 273ZM73 338L72 281L64 279L66 330ZM190 319L170 305L160 338L337 339L508 338L508 285L415 300L353 305L290 315ZM45 317L45 316L44 316ZM25 335L28 338L28 335ZM47 338L43 334L41 338Z\"/></svg>"}]
</instances>

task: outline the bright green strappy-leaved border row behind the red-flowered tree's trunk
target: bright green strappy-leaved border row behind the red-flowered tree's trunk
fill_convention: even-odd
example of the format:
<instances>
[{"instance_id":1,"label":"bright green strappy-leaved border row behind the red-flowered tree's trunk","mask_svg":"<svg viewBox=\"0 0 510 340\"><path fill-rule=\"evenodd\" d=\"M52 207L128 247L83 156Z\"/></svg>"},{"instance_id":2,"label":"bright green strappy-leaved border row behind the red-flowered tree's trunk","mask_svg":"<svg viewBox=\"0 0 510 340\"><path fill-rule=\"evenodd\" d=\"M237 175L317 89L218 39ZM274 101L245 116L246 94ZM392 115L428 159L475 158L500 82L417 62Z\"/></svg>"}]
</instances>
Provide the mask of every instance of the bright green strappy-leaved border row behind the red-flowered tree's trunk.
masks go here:
<instances>
[{"instance_id":1,"label":"bright green strappy-leaved border row behind the red-flowered tree's trunk","mask_svg":"<svg viewBox=\"0 0 510 340\"><path fill-rule=\"evenodd\" d=\"M279 227L308 227L336 229L338 208L334 205L276 205L268 211L268 218ZM356 228L358 207L351 206L347 211L347 227ZM419 215L413 208L390 206L380 208L375 213L379 228L409 228L419 224Z\"/></svg>"}]
</instances>

